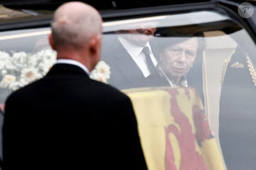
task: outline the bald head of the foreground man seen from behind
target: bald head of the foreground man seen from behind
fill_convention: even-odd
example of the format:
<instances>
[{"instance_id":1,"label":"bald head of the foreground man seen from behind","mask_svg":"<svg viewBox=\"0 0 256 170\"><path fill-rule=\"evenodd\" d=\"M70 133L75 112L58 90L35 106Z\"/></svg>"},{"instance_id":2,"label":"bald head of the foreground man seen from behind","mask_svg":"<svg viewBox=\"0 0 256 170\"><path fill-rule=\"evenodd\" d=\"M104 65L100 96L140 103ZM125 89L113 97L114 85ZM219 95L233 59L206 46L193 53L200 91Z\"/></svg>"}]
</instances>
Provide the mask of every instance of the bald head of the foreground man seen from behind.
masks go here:
<instances>
[{"instance_id":1,"label":"bald head of the foreground man seen from behind","mask_svg":"<svg viewBox=\"0 0 256 170\"><path fill-rule=\"evenodd\" d=\"M91 71L101 57L102 17L83 2L65 3L54 13L49 42L57 59L79 61Z\"/></svg>"}]
</instances>

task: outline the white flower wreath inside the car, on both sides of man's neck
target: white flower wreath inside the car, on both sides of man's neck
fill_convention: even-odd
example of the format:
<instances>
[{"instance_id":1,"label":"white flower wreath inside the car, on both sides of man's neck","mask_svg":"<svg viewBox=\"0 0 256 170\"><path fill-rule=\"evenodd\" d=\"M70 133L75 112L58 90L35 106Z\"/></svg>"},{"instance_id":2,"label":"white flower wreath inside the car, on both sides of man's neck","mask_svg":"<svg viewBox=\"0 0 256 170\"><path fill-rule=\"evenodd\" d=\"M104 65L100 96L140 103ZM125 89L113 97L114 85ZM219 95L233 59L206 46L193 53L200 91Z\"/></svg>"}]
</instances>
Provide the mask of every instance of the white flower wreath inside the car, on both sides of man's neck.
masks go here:
<instances>
[{"instance_id":1,"label":"white flower wreath inside the car, on both sides of man's neck","mask_svg":"<svg viewBox=\"0 0 256 170\"><path fill-rule=\"evenodd\" d=\"M43 49L35 54L16 52L10 55L0 51L0 88L17 90L45 76L56 62L56 51ZM90 78L107 83L110 67L99 61L90 74Z\"/></svg>"}]
</instances>

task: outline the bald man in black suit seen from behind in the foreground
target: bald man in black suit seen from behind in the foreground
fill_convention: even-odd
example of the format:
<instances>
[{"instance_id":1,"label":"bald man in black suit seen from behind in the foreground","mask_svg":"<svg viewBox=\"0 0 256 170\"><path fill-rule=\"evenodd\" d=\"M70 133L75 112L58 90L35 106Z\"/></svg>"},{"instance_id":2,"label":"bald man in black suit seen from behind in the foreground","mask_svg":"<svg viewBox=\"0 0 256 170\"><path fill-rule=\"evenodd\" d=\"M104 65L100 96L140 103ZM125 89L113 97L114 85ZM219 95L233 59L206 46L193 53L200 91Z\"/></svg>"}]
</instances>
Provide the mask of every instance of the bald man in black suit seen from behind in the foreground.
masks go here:
<instances>
[{"instance_id":1,"label":"bald man in black suit seen from behind in the foreground","mask_svg":"<svg viewBox=\"0 0 256 170\"><path fill-rule=\"evenodd\" d=\"M49 42L57 63L6 101L4 170L146 170L130 99L88 76L101 55L98 11L60 6Z\"/></svg>"}]
</instances>

